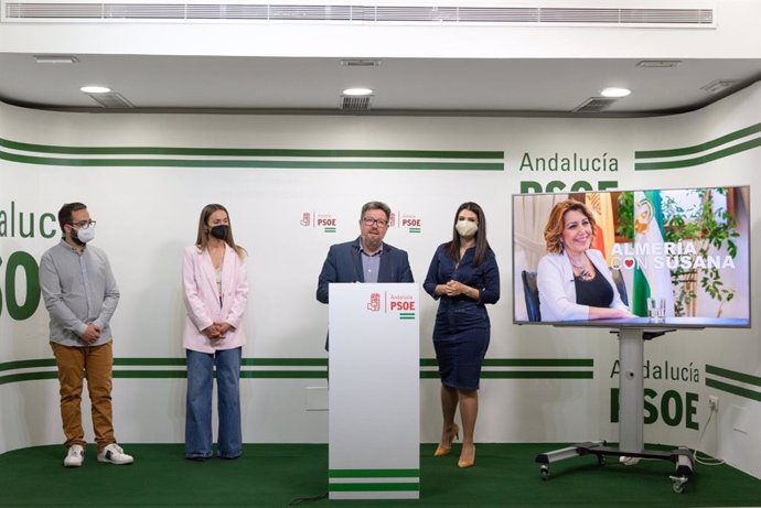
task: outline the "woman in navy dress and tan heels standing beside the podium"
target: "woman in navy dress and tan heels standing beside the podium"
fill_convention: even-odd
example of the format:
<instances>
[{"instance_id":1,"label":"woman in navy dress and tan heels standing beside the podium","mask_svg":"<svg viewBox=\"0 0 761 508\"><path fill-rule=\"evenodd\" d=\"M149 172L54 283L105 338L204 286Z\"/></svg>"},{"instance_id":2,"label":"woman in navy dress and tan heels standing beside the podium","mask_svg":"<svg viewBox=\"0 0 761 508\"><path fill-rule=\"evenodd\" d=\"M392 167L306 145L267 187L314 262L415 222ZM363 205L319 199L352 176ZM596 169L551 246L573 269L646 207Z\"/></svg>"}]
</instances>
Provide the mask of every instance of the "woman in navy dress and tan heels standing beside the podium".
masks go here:
<instances>
[{"instance_id":1,"label":"woman in navy dress and tan heels standing beside the podium","mask_svg":"<svg viewBox=\"0 0 761 508\"><path fill-rule=\"evenodd\" d=\"M486 303L500 300L500 269L486 241L486 217L475 203L463 203L454 214L452 240L436 249L424 289L439 301L433 347L441 376L441 441L433 455L451 452L459 426L462 450L458 466L475 463L473 431L479 413L481 364L489 347Z\"/></svg>"}]
</instances>

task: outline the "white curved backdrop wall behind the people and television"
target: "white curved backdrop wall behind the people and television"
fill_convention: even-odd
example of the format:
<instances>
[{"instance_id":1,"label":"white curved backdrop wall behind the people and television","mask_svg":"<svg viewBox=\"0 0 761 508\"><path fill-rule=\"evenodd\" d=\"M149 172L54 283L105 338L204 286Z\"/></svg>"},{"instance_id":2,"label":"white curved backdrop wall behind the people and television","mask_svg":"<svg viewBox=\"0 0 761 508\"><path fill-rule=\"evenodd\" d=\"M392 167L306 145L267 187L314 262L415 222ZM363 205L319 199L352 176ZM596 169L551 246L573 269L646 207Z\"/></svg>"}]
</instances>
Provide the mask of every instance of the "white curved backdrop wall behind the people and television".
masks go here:
<instances>
[{"instance_id":1,"label":"white curved backdrop wall behind the people and television","mask_svg":"<svg viewBox=\"0 0 761 508\"><path fill-rule=\"evenodd\" d=\"M224 203L236 239L250 252L251 294L246 326L246 358L324 358L326 307L314 300L317 277L328 247L353 239L361 205L384 199L397 213L419 218L421 231L397 227L388 242L405 248L416 281L422 282L436 246L448 239L455 207L479 202L489 219L490 241L503 275L503 294L490 309L492 344L489 359L592 359L593 379L484 379L478 440L494 442L572 442L617 440L610 421L610 390L618 346L607 331L518 327L512 324L510 196L522 182L542 185L559 180L570 186L602 181L618 188L750 185L758 196L759 149L682 170L634 171L634 152L694 145L761 121L761 87L743 90L704 110L653 119L524 118L363 118L187 115L76 115L0 106L0 138L44 147L175 147L330 150L468 150L502 151L504 171L473 170L331 170L216 167L216 155L77 155L47 153L44 147L0 147L0 210L55 214L62 203L83 201L98 221L96 242L109 253L121 289L112 320L117 358L182 358L183 306L180 257L195 238L197 214L210 202ZM519 171L525 152L555 152L618 160L617 172L529 173ZM67 165L57 161L8 160L14 155L131 161L127 166ZM133 166L135 159L148 160ZM200 167L162 167L164 159L201 160ZM233 158L237 161L261 159ZM315 158L307 158L312 162ZM336 159L337 160L337 159ZM407 159L409 160L409 159ZM340 159L345 162L346 159ZM319 161L318 161L319 162ZM336 219L336 231L304 227L304 213ZM759 251L759 212L751 210L752 251ZM1 225L0 225L1 226ZM8 227L8 225L7 225ZM1 227L0 227L0 230ZM8 229L6 229L8 231ZM21 238L6 233L0 244L0 279L8 299L8 260L29 252L39 260L56 240L40 233ZM753 261L752 273L759 273ZM23 287L22 271L14 274ZM759 282L752 283L758 298ZM24 301L18 290L15 298ZM436 306L424 298L420 349L432 358L430 343ZM759 313L753 309L752 322ZM49 359L47 316L42 304L25 320L0 312L0 368L18 360ZM699 429L676 426L662 418L646 426L645 441L687 445L726 458L761 477L759 402L706 386L706 366L750 376L761 374L758 325L740 331L684 331L647 344L651 366L686 368L687 380L645 381L660 397L674 390L680 398L696 393ZM53 370L43 367L0 370L2 376ZM132 369L168 371L179 367ZM130 369L118 366L117 370ZM508 370L511 368L507 368ZM512 368L521 370L525 367ZM491 370L496 370L491 368ZM548 370L558 370L549 368ZM583 369L582 369L583 370ZM697 371L697 376L693 372ZM246 378L243 383L246 442L324 442L326 414L307 411L307 388L323 379ZM737 383L736 383L737 385ZM758 386L742 385L759 392ZM720 398L718 421L706 428L709 394ZM117 436L122 442L181 442L184 424L182 379L117 378ZM432 442L440 432L438 381L421 380L421 435ZM56 381L29 380L0 385L0 451L62 441ZM739 429L739 430L736 430ZM705 435L700 440L701 433Z\"/></svg>"}]
</instances>

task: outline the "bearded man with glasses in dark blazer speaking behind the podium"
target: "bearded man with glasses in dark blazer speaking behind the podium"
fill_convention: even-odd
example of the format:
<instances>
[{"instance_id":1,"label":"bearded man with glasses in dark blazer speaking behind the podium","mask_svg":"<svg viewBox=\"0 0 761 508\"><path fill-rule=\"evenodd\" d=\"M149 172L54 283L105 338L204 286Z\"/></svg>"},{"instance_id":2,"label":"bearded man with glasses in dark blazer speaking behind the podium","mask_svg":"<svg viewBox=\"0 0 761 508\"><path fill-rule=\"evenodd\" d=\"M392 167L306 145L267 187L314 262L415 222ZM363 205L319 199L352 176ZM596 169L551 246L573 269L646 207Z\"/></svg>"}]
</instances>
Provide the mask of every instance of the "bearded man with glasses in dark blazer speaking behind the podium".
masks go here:
<instances>
[{"instance_id":1,"label":"bearded man with glasses in dark blazer speaking behind the podium","mask_svg":"<svg viewBox=\"0 0 761 508\"><path fill-rule=\"evenodd\" d=\"M328 303L331 282L415 282L407 252L383 242L392 210L385 203L365 203L360 237L331 246L322 264L317 299Z\"/></svg>"}]
</instances>

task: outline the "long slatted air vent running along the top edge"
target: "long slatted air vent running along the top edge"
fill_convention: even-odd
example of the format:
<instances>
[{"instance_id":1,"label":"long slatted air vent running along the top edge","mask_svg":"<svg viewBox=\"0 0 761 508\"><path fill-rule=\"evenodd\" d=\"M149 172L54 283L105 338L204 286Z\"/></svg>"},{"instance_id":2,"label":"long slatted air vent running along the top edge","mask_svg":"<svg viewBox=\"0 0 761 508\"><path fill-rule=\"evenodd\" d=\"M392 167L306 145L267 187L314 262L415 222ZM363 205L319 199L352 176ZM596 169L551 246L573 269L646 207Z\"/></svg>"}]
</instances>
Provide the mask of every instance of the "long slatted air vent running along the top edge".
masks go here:
<instances>
[{"instance_id":1,"label":"long slatted air vent running along the top edge","mask_svg":"<svg viewBox=\"0 0 761 508\"><path fill-rule=\"evenodd\" d=\"M135 20L245 20L251 22L309 23L411 23L428 25L511 24L511 25L604 25L650 28L715 28L715 8L688 7L687 0L661 0L658 8L558 8L474 6L364 6L287 4L242 2L147 2L142 0L4 0L3 22L58 21L107 22ZM392 0L393 1L393 0ZM630 0L631 1L631 0ZM371 2L366 2L371 3ZM401 2L398 2L401 3ZM487 2L493 3L493 2ZM540 3L538 1L525 3ZM547 3L558 2L550 0ZM589 3L589 2L588 2ZM624 3L624 2L619 2ZM706 3L700 0L699 3Z\"/></svg>"}]
</instances>

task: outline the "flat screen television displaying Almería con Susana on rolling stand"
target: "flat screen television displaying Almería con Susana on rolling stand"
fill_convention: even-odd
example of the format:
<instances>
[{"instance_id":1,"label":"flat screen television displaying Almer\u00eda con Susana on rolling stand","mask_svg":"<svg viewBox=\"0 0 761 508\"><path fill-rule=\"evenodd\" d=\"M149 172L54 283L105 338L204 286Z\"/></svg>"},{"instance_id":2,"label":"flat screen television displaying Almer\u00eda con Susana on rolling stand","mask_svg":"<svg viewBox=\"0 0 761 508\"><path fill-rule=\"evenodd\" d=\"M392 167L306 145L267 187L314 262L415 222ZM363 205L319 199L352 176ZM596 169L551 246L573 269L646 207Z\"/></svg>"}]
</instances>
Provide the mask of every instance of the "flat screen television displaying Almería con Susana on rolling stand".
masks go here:
<instances>
[{"instance_id":1,"label":"flat screen television displaying Almer\u00eda con Susana on rolling stand","mask_svg":"<svg viewBox=\"0 0 761 508\"><path fill-rule=\"evenodd\" d=\"M750 327L749 186L529 193L512 205L515 324Z\"/></svg>"}]
</instances>

